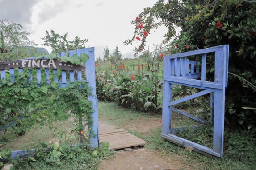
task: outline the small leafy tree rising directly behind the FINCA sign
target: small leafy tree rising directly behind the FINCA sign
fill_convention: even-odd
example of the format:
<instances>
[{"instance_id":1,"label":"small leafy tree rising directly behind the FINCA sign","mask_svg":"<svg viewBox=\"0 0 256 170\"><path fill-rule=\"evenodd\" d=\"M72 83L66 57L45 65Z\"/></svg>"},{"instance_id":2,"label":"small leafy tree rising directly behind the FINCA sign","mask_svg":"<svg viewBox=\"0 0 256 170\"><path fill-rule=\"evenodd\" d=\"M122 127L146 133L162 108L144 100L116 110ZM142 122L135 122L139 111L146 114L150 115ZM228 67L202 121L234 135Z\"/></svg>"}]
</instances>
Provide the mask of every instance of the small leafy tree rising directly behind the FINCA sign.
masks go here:
<instances>
[{"instance_id":1,"label":"small leafy tree rising directly behind the FINCA sign","mask_svg":"<svg viewBox=\"0 0 256 170\"><path fill-rule=\"evenodd\" d=\"M44 40L42 45L50 46L52 53L60 53L74 49L83 49L85 48L85 43L88 42L88 39L81 40L78 36L75 37L75 40L68 41L67 37L67 32L64 35L59 35L54 30L50 30L50 33L46 30L46 36L41 38Z\"/></svg>"}]
</instances>

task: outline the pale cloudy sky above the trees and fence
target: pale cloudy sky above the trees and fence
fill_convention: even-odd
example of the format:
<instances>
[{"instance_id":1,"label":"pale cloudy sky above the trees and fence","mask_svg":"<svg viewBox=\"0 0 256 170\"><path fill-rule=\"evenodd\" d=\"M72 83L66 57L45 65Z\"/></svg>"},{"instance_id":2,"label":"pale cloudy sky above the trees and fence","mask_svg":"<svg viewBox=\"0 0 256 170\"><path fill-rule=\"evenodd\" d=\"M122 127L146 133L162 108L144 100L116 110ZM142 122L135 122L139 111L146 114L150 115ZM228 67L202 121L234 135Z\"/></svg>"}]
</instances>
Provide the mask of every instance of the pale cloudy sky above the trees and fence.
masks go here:
<instances>
[{"instance_id":1,"label":"pale cloudy sky above the trees and fence","mask_svg":"<svg viewBox=\"0 0 256 170\"><path fill-rule=\"evenodd\" d=\"M134 47L124 45L123 41L133 36L134 25L131 21L143 8L151 7L157 0L0 0L0 20L7 19L21 24L30 32L29 40L38 47L42 46L41 38L45 31L68 33L68 40L75 36L88 39L86 47L95 47L95 57L103 58L103 49L108 46L110 52L118 46L123 57L132 58ZM159 45L167 28L159 27L156 32L147 36L147 46Z\"/></svg>"}]
</instances>

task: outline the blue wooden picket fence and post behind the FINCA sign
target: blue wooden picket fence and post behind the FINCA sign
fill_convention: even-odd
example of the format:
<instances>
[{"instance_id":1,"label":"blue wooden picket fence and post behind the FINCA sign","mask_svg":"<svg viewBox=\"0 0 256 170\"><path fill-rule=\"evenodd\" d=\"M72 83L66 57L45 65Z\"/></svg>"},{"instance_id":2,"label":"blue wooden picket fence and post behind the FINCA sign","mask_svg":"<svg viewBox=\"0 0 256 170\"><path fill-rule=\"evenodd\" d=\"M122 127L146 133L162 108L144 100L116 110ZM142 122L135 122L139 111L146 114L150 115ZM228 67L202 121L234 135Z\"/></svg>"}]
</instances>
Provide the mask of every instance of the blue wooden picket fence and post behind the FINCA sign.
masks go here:
<instances>
[{"instance_id":1,"label":"blue wooden picket fence and post behind the FINCA sign","mask_svg":"<svg viewBox=\"0 0 256 170\"><path fill-rule=\"evenodd\" d=\"M56 81L58 83L61 83L61 86L67 86L68 84L74 82L74 81L88 81L88 85L92 88L92 95L88 96L88 100L92 102L92 106L94 109L94 112L92 114L93 117L93 125L92 130L94 134L89 134L89 144L92 148L95 148L99 146L99 130L98 130L98 110L97 110L97 96L96 96L96 82L95 82L95 61L94 61L94 48L86 48L86 49L77 49L72 50L68 52L62 52L60 53L60 56L64 56L66 53L69 54L69 56L72 56L74 54L77 54L79 57L82 53L87 54L89 56L88 61L85 63L85 77L82 77L82 70L77 70L77 75L75 77L74 71L69 71L69 75L67 75L66 70L62 70L61 73L61 79L58 80L57 77L54 78L53 81ZM35 59L35 57L29 58L29 59ZM25 60L25 59L22 59ZM6 71L7 70L1 70L1 80L6 78ZM11 77L11 81L14 81L14 72L15 70L13 68L9 69L9 74ZM22 72L23 68L19 68L18 72ZM57 69L53 69L53 73L55 74L57 72ZM46 81L47 83L50 83L50 74L49 69L44 69L44 73L46 75ZM31 74L31 80L32 80L32 72ZM37 69L37 81L38 84L41 82L41 69ZM96 134L96 135L95 135ZM26 150L18 150L18 151L12 151L11 157L16 157L17 154L25 154L27 153Z\"/></svg>"}]
</instances>

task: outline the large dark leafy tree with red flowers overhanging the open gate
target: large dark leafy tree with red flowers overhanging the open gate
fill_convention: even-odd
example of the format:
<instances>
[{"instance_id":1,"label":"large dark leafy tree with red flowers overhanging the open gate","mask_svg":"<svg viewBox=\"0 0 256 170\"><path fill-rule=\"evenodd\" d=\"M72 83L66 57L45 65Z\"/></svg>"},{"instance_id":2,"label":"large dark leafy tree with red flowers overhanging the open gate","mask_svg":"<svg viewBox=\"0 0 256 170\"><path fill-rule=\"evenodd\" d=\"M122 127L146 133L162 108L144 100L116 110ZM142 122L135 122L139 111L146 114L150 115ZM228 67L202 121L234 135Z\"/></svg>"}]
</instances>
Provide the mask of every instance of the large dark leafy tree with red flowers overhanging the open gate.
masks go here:
<instances>
[{"instance_id":1,"label":"large dark leafy tree with red flowers overhanging the open gate","mask_svg":"<svg viewBox=\"0 0 256 170\"><path fill-rule=\"evenodd\" d=\"M147 36L160 25L168 28L163 42L176 52L229 44L226 120L251 129L256 127L255 11L256 2L249 0L159 0L132 21L134 36L125 44L140 40L135 50L143 51ZM209 68L213 64L207 59Z\"/></svg>"}]
</instances>

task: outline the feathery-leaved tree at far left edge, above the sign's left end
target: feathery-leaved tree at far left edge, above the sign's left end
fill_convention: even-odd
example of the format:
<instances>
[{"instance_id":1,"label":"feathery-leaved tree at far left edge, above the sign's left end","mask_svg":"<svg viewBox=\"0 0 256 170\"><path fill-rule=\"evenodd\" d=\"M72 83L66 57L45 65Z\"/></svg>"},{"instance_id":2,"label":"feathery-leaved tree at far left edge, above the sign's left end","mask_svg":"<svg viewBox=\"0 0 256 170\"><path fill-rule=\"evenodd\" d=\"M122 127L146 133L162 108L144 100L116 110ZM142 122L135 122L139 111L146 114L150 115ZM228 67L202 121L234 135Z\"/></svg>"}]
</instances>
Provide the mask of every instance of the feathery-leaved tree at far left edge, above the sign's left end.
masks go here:
<instances>
[{"instance_id":1,"label":"feathery-leaved tree at far left edge, above the sign's left end","mask_svg":"<svg viewBox=\"0 0 256 170\"><path fill-rule=\"evenodd\" d=\"M0 61L30 57L36 51L29 33L22 31L22 25L8 20L0 20Z\"/></svg>"}]
</instances>

